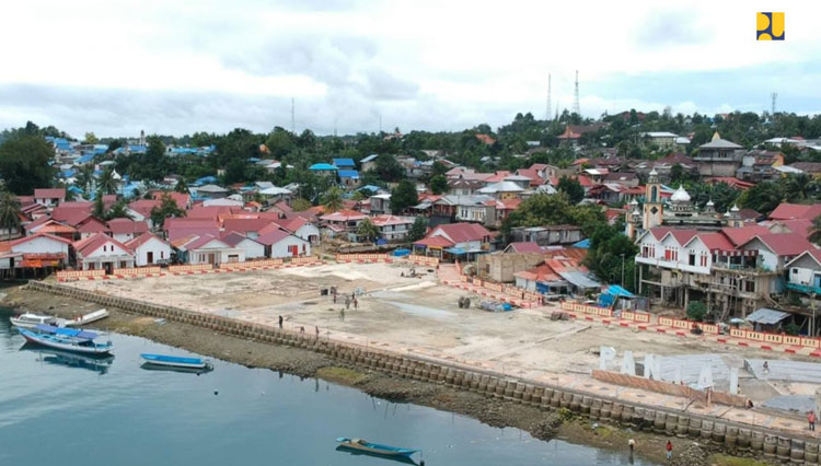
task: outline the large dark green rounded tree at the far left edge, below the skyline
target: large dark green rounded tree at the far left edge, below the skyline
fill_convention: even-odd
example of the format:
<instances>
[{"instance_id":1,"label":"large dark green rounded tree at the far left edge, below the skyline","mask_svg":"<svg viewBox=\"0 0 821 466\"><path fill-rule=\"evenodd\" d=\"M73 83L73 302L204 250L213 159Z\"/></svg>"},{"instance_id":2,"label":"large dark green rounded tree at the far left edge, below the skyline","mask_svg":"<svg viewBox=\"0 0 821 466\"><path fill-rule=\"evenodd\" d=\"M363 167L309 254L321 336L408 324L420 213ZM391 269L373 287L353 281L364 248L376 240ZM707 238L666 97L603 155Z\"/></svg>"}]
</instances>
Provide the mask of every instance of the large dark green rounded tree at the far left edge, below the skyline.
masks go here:
<instances>
[{"instance_id":1,"label":"large dark green rounded tree at the far left edge, below the skyline","mask_svg":"<svg viewBox=\"0 0 821 466\"><path fill-rule=\"evenodd\" d=\"M19 135L0 145L0 178L15 195L31 195L34 188L50 187L54 148L39 136Z\"/></svg>"}]
</instances>

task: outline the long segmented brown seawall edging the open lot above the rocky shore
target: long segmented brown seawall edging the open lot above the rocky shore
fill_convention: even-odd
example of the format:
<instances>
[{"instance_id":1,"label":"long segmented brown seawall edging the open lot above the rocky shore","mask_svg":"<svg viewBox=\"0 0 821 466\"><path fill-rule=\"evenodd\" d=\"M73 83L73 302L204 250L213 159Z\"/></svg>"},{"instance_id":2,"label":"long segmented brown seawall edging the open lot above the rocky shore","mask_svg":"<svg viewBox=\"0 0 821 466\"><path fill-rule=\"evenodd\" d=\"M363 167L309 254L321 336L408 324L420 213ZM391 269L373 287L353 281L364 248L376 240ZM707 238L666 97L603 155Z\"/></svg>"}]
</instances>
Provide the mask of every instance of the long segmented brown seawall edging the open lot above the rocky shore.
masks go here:
<instances>
[{"instance_id":1,"label":"long segmented brown seawall edging the open lot above the rocky shore","mask_svg":"<svg viewBox=\"0 0 821 466\"><path fill-rule=\"evenodd\" d=\"M35 291L69 296L127 312L197 325L236 337L315 351L348 364L405 378L439 383L543 410L568 409L594 421L682 439L690 438L721 447L731 454L763 456L773 462L819 464L818 439L793 432L751 427L725 419L625 401L613 396L510 377L418 354L396 353L317 339L310 334L280 330L223 316L97 294L59 283L31 281L27 287Z\"/></svg>"}]
</instances>

